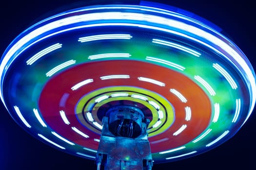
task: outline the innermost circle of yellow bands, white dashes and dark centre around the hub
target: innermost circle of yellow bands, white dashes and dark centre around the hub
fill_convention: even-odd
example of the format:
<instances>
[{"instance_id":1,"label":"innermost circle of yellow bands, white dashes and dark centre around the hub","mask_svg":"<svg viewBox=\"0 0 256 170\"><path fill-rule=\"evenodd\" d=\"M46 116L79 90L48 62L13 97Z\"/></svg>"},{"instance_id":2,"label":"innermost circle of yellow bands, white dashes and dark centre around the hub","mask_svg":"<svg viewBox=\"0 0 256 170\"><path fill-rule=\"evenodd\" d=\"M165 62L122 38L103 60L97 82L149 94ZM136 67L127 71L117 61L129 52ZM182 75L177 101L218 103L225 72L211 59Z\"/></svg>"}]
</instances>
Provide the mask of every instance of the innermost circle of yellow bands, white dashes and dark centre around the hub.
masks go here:
<instances>
[{"instance_id":1,"label":"innermost circle of yellow bands, white dashes and dark centre around the hub","mask_svg":"<svg viewBox=\"0 0 256 170\"><path fill-rule=\"evenodd\" d=\"M127 91L124 91L124 89ZM93 96L93 98L88 99L90 96ZM102 101L99 102L98 99L102 99ZM89 128L91 125L98 129L97 126L95 127L94 120L97 121L97 124L102 125L102 118L110 106L135 105L143 110L147 119L151 120L148 133L149 136L153 136L156 131L157 133L165 131L174 120L174 111L170 103L167 101L160 103L158 99L163 100L162 97L148 90L131 86L112 86L96 90L83 97L77 104L76 114L83 125ZM98 130L95 132L100 135L101 131Z\"/></svg>"}]
</instances>

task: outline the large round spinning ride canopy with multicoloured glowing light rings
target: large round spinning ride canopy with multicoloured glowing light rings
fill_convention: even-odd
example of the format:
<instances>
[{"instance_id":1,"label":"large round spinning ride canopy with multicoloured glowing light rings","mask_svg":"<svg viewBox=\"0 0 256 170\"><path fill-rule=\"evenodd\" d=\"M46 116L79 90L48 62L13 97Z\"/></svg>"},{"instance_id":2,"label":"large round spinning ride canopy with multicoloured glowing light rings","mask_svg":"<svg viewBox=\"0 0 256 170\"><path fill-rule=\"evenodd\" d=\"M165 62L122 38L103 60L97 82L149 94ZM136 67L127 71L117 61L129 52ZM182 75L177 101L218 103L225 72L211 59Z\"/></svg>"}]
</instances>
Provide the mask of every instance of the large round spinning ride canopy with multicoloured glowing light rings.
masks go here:
<instances>
[{"instance_id":1,"label":"large round spinning ride canopy with multicoloured glowing light rings","mask_svg":"<svg viewBox=\"0 0 256 170\"><path fill-rule=\"evenodd\" d=\"M213 149L252 113L255 73L220 29L190 15L141 2L49 17L4 52L0 98L32 136L89 159L102 118L118 105L151 120L155 163Z\"/></svg>"}]
</instances>

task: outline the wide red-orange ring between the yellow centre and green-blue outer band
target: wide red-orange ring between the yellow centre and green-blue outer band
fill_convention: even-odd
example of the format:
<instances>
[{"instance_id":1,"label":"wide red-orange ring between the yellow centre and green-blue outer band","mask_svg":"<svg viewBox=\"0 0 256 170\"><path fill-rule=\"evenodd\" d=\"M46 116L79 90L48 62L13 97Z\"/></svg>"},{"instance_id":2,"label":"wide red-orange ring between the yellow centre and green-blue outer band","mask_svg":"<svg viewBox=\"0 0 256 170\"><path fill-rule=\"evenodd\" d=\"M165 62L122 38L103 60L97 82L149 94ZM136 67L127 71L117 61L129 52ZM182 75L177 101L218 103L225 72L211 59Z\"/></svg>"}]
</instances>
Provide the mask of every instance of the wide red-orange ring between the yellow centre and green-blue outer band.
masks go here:
<instances>
[{"instance_id":1,"label":"wide red-orange ring between the yellow centre and green-blue outer band","mask_svg":"<svg viewBox=\"0 0 256 170\"><path fill-rule=\"evenodd\" d=\"M130 69L123 69L127 67L130 67ZM136 71L138 68L140 68L139 71ZM90 70L94 71L92 72ZM159 72L161 74L159 74ZM130 78L100 80L101 76L117 74L130 75ZM68 79L65 79L65 77L68 77ZM155 79L160 82L164 82L165 86L160 87L159 85L149 82L139 81L138 77ZM82 86L75 91L71 90L73 85L85 79L93 79L95 81L88 85ZM104 84L101 83L101 81L104 81ZM61 85L59 82L61 82ZM172 126L157 136L149 137L149 141L153 145L158 145L157 141L168 138L166 141L162 141L159 146L152 147L152 153L168 150L170 146L175 148L184 145L195 139L209 125L212 116L211 102L198 85L196 85L188 77L174 70L146 62L131 60L85 63L61 72L49 80L44 86L39 98L39 110L47 124L60 135L65 136L70 141L73 141L81 146L97 150L98 142L91 142L90 140L94 140L95 138L98 139L99 135L93 133L80 124L76 117L74 106L76 106L81 96L86 95L96 89L104 88L106 86L124 85L136 86L138 88L146 87L146 89L160 94L167 99L170 103L172 103L175 109L175 121ZM177 96L170 92L170 88L177 89L181 94L186 94L187 102L181 102ZM72 93L72 95L70 95L70 97L67 99L65 108L61 108L59 107L59 103L61 97L65 93ZM197 97L197 101L195 101L195 96ZM202 105L201 103L204 104ZM184 108L186 106L189 106L192 111L192 119L190 121L186 121L184 119ZM63 126L64 122L59 114L61 109L64 109L65 112L68 113L66 116L70 121L70 125ZM184 123L186 123L187 128L182 132L182 135L174 136L173 134ZM90 137L85 138L80 136L71 129L73 126Z\"/></svg>"}]
</instances>

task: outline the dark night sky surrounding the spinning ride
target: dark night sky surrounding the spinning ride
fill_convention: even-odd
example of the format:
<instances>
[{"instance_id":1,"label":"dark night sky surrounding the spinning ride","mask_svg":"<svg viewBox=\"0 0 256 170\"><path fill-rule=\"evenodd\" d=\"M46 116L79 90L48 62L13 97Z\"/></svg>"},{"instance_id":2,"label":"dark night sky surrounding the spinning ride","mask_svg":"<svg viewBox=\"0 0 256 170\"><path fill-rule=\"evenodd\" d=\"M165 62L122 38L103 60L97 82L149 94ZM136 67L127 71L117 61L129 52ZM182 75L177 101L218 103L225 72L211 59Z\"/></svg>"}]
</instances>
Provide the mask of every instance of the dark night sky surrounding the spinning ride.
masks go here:
<instances>
[{"instance_id":1,"label":"dark night sky surrounding the spinning ride","mask_svg":"<svg viewBox=\"0 0 256 170\"><path fill-rule=\"evenodd\" d=\"M117 0L8 0L0 2L0 55L23 30L63 10ZM121 1L121 0L119 0ZM122 0L136 2L138 0ZM215 23L232 37L256 68L256 13L253 0L155 0ZM219 147L188 159L154 165L153 170L256 170L256 113ZM55 150L28 135L0 104L0 170L96 170L94 161Z\"/></svg>"}]
</instances>

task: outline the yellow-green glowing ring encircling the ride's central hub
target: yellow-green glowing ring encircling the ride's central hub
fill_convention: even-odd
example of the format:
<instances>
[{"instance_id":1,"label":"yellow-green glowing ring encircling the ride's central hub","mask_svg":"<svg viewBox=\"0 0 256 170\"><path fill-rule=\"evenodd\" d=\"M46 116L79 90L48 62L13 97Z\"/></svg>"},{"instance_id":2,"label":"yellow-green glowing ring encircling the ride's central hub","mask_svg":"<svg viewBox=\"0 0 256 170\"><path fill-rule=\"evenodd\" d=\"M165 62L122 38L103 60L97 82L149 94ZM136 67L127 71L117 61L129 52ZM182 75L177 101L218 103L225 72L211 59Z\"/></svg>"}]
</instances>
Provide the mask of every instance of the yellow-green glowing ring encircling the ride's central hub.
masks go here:
<instances>
[{"instance_id":1,"label":"yellow-green glowing ring encircling the ride's central hub","mask_svg":"<svg viewBox=\"0 0 256 170\"><path fill-rule=\"evenodd\" d=\"M139 93L137 93L138 91ZM125 93L125 94L128 94L128 96L111 97L111 95L118 94L118 93L119 94ZM131 97L132 95L137 95L137 96L140 95L142 97L145 97L147 101ZM100 102L95 102L97 101L98 98L101 98L104 96L110 96L110 98L106 98ZM148 126L149 137L155 136L164 132L174 122L175 113L170 102L168 102L162 96L156 93L153 93L149 90L145 90L138 87L131 87L131 86L115 86L115 87L100 88L96 91L93 91L89 94L84 95L79 100L76 107L77 117L84 126L90 128L90 130L92 130L93 132L100 134L100 129L95 127L93 124L93 122L96 121L99 125L102 125L101 120L98 119L98 116L97 116L98 109L106 103L113 102L113 101L120 101L120 100L140 103L151 111L152 121ZM152 104L149 103L149 101L158 104L160 108L157 110ZM162 113L161 119L159 118L158 112ZM84 113L85 115L83 115L82 113ZM92 116L92 119L94 121L90 121L90 119L86 117L87 113ZM160 120L159 122L161 123L158 123L158 120Z\"/></svg>"}]
</instances>

